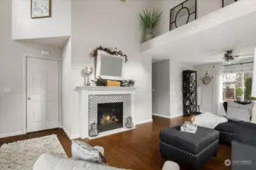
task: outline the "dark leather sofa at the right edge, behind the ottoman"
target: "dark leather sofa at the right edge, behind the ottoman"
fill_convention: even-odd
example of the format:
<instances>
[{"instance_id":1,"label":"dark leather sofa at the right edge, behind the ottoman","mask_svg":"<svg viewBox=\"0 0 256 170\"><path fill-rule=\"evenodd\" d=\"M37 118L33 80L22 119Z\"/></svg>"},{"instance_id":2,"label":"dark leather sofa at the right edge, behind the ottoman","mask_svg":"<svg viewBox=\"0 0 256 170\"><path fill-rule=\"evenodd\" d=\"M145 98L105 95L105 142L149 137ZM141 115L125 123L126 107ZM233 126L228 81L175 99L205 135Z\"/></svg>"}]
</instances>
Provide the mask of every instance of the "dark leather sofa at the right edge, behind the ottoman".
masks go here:
<instances>
[{"instance_id":1,"label":"dark leather sofa at the right edge, behind the ottoman","mask_svg":"<svg viewBox=\"0 0 256 170\"><path fill-rule=\"evenodd\" d=\"M227 102L224 102L223 106L227 111ZM256 124L229 120L229 122L216 126L215 129L220 131L221 143L232 145L232 170L255 170Z\"/></svg>"}]
</instances>

